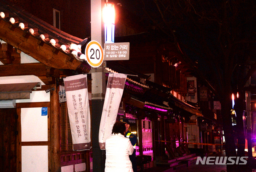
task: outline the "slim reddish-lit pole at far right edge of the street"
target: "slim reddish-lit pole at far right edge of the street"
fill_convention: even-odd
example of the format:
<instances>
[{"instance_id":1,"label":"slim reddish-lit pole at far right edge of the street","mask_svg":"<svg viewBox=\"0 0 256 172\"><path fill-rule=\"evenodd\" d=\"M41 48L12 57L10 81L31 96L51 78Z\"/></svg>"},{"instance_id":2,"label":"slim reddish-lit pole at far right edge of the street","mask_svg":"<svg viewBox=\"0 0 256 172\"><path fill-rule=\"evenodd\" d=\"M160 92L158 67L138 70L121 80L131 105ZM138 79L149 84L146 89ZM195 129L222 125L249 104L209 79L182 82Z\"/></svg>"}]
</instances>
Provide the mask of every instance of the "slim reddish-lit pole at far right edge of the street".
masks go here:
<instances>
[{"instance_id":1,"label":"slim reddish-lit pole at far right edge of the street","mask_svg":"<svg viewBox=\"0 0 256 172\"><path fill-rule=\"evenodd\" d=\"M252 158L252 111L250 91L246 91L246 115L248 158Z\"/></svg>"}]
</instances>

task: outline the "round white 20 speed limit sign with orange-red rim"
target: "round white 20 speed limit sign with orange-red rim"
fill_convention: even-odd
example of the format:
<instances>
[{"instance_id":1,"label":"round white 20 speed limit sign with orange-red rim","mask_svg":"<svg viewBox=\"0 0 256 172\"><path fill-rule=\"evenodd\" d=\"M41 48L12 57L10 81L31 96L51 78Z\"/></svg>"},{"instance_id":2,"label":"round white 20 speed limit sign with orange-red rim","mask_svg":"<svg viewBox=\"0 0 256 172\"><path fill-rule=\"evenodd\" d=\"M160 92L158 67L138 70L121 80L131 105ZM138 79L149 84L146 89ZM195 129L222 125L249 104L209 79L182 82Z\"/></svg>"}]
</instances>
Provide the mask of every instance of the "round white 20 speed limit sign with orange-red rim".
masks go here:
<instances>
[{"instance_id":1,"label":"round white 20 speed limit sign with orange-red rim","mask_svg":"<svg viewBox=\"0 0 256 172\"><path fill-rule=\"evenodd\" d=\"M86 45L85 55L91 67L99 67L104 59L103 48L97 41L90 41Z\"/></svg>"}]
</instances>

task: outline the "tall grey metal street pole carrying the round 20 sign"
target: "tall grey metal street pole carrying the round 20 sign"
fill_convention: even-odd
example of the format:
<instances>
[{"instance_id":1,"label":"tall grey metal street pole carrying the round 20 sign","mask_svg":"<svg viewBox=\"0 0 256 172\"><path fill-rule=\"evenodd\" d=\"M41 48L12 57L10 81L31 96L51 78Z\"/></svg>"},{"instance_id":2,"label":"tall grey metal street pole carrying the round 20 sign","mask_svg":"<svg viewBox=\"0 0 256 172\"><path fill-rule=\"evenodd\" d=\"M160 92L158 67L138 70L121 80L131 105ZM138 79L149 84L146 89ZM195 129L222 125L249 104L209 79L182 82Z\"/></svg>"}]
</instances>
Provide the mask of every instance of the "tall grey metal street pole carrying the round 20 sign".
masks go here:
<instances>
[{"instance_id":1,"label":"tall grey metal street pole carrying the round 20 sign","mask_svg":"<svg viewBox=\"0 0 256 172\"><path fill-rule=\"evenodd\" d=\"M104 47L104 24L102 9L104 0L91 0L91 40L97 41ZM92 144L93 172L104 172L105 151L99 148L99 126L106 92L105 61L98 68L91 70L92 75Z\"/></svg>"}]
</instances>

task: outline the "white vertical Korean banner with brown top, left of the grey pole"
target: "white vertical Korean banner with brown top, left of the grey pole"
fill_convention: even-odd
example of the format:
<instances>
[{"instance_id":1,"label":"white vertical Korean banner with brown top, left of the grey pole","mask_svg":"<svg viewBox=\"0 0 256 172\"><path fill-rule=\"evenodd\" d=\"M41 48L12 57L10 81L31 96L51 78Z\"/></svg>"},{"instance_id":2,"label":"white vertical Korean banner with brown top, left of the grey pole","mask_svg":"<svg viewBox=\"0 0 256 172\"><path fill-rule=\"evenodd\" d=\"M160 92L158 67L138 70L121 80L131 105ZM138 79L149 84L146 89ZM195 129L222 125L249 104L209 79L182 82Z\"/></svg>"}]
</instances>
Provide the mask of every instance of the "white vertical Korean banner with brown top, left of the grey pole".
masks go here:
<instances>
[{"instance_id":1,"label":"white vertical Korean banner with brown top, left of the grey pole","mask_svg":"<svg viewBox=\"0 0 256 172\"><path fill-rule=\"evenodd\" d=\"M91 144L91 118L87 88L87 75L63 78L73 150L89 150Z\"/></svg>"}]
</instances>

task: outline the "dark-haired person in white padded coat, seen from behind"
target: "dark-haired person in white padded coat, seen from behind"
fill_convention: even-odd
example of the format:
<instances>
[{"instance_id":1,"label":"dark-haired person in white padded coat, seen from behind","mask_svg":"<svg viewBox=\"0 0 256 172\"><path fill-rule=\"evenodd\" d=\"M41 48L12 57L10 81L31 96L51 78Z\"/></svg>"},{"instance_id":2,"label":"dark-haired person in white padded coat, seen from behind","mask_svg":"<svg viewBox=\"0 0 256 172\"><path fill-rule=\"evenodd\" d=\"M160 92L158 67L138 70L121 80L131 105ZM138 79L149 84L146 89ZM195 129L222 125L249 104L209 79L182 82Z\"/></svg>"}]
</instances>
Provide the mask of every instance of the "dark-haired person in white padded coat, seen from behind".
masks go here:
<instances>
[{"instance_id":1,"label":"dark-haired person in white padded coat, seen from behind","mask_svg":"<svg viewBox=\"0 0 256 172\"><path fill-rule=\"evenodd\" d=\"M133 154L133 145L125 137L125 123L117 121L112 135L106 139L105 172L133 172L129 155Z\"/></svg>"}]
</instances>

